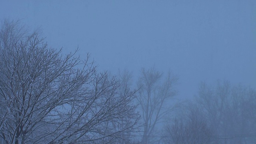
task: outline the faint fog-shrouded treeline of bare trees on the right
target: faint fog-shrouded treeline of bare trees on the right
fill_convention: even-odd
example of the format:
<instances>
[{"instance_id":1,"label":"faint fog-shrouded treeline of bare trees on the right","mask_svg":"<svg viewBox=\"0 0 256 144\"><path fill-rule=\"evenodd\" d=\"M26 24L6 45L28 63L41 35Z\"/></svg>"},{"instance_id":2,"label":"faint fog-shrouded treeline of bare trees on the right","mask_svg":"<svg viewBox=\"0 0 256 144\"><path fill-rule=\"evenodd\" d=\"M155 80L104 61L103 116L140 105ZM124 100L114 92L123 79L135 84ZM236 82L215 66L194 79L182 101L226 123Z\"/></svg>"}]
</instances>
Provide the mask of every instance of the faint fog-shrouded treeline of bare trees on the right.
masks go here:
<instances>
[{"instance_id":1,"label":"faint fog-shrouded treeline of bare trees on the right","mask_svg":"<svg viewBox=\"0 0 256 144\"><path fill-rule=\"evenodd\" d=\"M253 144L256 140L256 91L228 81L200 84L164 128L166 144Z\"/></svg>"}]
</instances>

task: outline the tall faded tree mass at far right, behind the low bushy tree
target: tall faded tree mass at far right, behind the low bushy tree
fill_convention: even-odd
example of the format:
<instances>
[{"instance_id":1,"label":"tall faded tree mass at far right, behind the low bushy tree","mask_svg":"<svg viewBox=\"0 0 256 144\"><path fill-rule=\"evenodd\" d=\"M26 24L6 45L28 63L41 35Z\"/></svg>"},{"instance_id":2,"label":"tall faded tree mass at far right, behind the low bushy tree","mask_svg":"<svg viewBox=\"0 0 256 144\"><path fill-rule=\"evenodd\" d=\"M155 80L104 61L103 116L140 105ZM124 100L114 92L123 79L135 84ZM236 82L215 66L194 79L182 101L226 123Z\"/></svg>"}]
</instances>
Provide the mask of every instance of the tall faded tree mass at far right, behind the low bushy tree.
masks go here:
<instances>
[{"instance_id":1,"label":"tall faded tree mass at far right, behind the low bushy tree","mask_svg":"<svg viewBox=\"0 0 256 144\"><path fill-rule=\"evenodd\" d=\"M197 103L215 134L218 144L250 144L255 142L253 120L256 92L228 81L216 85L200 84ZM255 115L254 115L255 116Z\"/></svg>"}]
</instances>

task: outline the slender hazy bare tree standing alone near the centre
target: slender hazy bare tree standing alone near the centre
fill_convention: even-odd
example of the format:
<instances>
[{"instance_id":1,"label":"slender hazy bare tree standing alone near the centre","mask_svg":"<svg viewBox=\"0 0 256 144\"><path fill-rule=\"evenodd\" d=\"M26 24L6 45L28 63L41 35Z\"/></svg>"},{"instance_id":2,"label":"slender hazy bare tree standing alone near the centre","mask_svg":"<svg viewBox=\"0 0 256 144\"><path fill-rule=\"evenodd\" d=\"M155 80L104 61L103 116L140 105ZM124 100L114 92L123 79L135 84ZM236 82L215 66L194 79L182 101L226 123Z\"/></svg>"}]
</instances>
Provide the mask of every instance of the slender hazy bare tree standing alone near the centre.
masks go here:
<instances>
[{"instance_id":1,"label":"slender hazy bare tree standing alone near the centre","mask_svg":"<svg viewBox=\"0 0 256 144\"><path fill-rule=\"evenodd\" d=\"M165 107L164 102L176 95L174 86L178 78L172 76L170 72L162 83L161 78L162 73L154 68L149 70L142 68L138 80L138 86L140 87L138 102L142 108L144 122L142 144L149 143L149 136L152 135L156 124L173 108Z\"/></svg>"}]
</instances>

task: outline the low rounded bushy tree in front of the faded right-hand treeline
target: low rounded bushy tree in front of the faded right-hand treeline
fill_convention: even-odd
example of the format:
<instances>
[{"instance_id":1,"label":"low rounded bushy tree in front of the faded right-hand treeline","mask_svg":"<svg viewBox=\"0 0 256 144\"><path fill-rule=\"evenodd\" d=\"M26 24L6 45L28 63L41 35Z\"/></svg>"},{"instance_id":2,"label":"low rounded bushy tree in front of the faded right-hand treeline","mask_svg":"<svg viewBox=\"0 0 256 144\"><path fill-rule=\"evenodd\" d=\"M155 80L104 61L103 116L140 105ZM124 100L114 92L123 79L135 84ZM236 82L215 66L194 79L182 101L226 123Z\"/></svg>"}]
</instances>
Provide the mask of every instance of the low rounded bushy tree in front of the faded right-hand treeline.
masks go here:
<instances>
[{"instance_id":1,"label":"low rounded bushy tree in front of the faded right-hand treeline","mask_svg":"<svg viewBox=\"0 0 256 144\"><path fill-rule=\"evenodd\" d=\"M212 130L198 109L189 104L186 112L169 120L164 127L164 144L210 144Z\"/></svg>"}]
</instances>

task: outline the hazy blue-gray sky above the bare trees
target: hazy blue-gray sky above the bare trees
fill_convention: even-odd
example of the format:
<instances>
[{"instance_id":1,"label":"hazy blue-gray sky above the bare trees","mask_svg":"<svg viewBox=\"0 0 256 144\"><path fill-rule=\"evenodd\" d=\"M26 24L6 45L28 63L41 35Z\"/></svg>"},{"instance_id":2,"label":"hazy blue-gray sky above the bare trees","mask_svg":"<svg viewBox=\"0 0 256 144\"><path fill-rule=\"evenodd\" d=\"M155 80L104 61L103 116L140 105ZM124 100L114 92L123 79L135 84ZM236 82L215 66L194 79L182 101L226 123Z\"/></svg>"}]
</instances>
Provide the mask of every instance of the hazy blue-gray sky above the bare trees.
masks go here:
<instances>
[{"instance_id":1,"label":"hazy blue-gray sky above the bare trees","mask_svg":"<svg viewBox=\"0 0 256 144\"><path fill-rule=\"evenodd\" d=\"M0 0L4 18L40 26L64 53L79 46L99 70L172 70L183 98L200 81L256 88L255 0Z\"/></svg>"}]
</instances>

